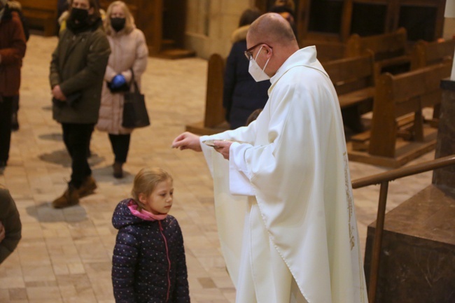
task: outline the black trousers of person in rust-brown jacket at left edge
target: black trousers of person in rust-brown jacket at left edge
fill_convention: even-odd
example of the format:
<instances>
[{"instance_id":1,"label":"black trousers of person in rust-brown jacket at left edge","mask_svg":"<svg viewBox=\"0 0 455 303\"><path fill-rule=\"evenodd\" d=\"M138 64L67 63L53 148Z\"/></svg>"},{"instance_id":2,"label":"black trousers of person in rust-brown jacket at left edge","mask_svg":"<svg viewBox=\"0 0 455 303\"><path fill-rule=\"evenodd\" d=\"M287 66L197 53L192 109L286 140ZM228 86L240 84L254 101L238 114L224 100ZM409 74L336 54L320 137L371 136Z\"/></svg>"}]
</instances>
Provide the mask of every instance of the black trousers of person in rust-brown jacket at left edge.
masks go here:
<instances>
[{"instance_id":1,"label":"black trousers of person in rust-brown jacket at left edge","mask_svg":"<svg viewBox=\"0 0 455 303\"><path fill-rule=\"evenodd\" d=\"M14 97L0 96L0 161L7 162L11 143L11 113Z\"/></svg>"}]
</instances>

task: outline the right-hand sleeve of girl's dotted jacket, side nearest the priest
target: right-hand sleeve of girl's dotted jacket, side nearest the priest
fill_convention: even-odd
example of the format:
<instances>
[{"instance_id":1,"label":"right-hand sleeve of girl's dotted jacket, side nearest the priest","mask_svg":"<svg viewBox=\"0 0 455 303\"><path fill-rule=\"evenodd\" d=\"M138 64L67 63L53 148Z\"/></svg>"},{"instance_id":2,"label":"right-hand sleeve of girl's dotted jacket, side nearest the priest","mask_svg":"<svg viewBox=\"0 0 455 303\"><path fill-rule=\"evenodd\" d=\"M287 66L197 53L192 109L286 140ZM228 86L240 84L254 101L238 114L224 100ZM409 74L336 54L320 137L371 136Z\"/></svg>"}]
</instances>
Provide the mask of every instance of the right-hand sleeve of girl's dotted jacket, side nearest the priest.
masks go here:
<instances>
[{"instance_id":1,"label":"right-hand sleeve of girl's dotted jacket, side nearest the priest","mask_svg":"<svg viewBox=\"0 0 455 303\"><path fill-rule=\"evenodd\" d=\"M179 241L177 247L179 249L179 256L177 259L176 267L176 287L174 288L174 295L176 303L190 303L190 289L188 286L188 272L186 269L185 247L183 246L183 235L179 223L176 223L178 230Z\"/></svg>"}]
</instances>

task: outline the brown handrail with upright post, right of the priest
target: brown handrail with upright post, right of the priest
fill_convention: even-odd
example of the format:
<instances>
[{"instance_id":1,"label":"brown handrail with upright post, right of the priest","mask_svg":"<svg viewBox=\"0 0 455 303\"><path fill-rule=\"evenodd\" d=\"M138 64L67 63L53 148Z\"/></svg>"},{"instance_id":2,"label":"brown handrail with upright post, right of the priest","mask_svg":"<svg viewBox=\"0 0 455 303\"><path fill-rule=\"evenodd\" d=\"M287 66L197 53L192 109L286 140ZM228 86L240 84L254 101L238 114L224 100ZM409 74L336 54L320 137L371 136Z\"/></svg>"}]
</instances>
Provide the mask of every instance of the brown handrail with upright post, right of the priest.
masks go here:
<instances>
[{"instance_id":1,"label":"brown handrail with upright post, right of the priest","mask_svg":"<svg viewBox=\"0 0 455 303\"><path fill-rule=\"evenodd\" d=\"M432 171L455 164L455 155L441 157L436 160L423 162L393 169L381 174L368 176L352 181L352 188L363 188L368 185L381 184L379 190L379 203L377 206L376 230L374 230L373 251L370 268L370 283L368 287L368 302L374 303L376 300L377 277L379 274L379 261L381 257L382 234L384 232L384 218L386 216L386 200L388 192L388 182L398 178L420 174L425 171Z\"/></svg>"}]
</instances>

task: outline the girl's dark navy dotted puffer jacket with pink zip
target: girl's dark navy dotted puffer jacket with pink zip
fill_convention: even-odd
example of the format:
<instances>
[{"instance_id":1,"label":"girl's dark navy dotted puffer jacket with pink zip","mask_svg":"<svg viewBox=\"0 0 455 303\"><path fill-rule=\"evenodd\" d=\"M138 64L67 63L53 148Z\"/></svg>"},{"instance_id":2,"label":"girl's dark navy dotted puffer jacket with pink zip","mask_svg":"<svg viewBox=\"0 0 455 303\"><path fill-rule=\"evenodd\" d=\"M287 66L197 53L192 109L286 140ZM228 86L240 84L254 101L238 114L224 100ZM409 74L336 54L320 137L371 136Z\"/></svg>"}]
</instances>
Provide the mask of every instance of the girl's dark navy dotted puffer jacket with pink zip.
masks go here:
<instances>
[{"instance_id":1,"label":"girl's dark navy dotted puffer jacket with pink zip","mask_svg":"<svg viewBox=\"0 0 455 303\"><path fill-rule=\"evenodd\" d=\"M190 302L182 232L176 218L148 221L134 216L126 199L113 213L118 229L112 258L116 302Z\"/></svg>"}]
</instances>

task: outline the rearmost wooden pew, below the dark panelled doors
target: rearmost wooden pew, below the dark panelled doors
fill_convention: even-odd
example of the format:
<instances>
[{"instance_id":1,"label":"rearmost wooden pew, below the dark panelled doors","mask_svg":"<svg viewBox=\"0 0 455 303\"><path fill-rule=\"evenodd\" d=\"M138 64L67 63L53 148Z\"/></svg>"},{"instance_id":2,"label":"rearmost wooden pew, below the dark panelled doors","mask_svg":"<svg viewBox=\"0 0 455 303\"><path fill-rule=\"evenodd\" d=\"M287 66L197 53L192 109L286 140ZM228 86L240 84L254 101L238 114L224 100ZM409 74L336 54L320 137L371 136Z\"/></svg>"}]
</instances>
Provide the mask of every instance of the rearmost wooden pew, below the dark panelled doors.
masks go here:
<instances>
[{"instance_id":1,"label":"rearmost wooden pew, below the dark panelled doors","mask_svg":"<svg viewBox=\"0 0 455 303\"><path fill-rule=\"evenodd\" d=\"M352 34L346 41L345 57L356 57L365 50L371 50L376 62L376 73L393 74L409 71L410 58L407 55L406 29L393 33L360 37Z\"/></svg>"}]
</instances>

